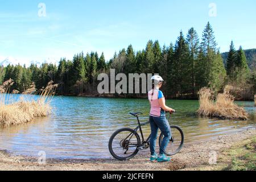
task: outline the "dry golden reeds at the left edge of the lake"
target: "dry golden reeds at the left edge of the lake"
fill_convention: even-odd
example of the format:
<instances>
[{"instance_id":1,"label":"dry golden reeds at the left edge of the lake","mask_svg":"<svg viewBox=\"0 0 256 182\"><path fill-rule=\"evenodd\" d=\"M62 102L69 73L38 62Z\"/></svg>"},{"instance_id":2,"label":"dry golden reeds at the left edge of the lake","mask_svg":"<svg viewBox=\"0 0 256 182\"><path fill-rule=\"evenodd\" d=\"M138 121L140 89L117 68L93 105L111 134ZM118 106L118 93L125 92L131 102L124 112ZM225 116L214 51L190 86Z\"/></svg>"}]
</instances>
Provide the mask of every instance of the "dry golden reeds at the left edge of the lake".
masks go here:
<instances>
[{"instance_id":1,"label":"dry golden reeds at the left edge of the lake","mask_svg":"<svg viewBox=\"0 0 256 182\"><path fill-rule=\"evenodd\" d=\"M48 82L46 88L35 93L39 94L37 100L26 101L24 96L28 95L23 94L17 102L14 102L11 94L9 94L13 84L14 81L10 79L0 85L0 124L5 126L19 125L51 114L52 107L50 104L55 95L57 84L53 85L53 81ZM15 91L15 93L17 92ZM29 94L29 92L26 93Z\"/></svg>"}]
</instances>

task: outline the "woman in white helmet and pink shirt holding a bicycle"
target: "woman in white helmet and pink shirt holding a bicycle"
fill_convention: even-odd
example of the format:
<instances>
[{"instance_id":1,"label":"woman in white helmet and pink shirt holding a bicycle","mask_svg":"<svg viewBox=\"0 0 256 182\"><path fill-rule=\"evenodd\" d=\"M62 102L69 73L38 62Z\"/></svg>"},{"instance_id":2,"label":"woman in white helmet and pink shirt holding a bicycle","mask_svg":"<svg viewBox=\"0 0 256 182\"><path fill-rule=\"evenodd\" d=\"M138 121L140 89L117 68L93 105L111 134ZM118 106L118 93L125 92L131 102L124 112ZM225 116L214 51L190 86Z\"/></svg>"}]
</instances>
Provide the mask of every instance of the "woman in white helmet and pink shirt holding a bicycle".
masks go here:
<instances>
[{"instance_id":1,"label":"woman in white helmet and pink shirt holding a bicycle","mask_svg":"<svg viewBox=\"0 0 256 182\"><path fill-rule=\"evenodd\" d=\"M163 92L159 89L163 85L163 78L160 76L153 76L151 78L154 86L150 92L148 92L148 100L151 104L150 110L150 126L151 126L151 139L150 139L150 151L151 161L157 160L158 162L170 162L171 158L164 155L164 150L168 146L171 139L171 128L166 119L166 111L173 113L174 109L166 106L166 100L163 96ZM158 129L164 134L162 144L160 146L159 156L155 152L156 139L158 137Z\"/></svg>"}]
</instances>

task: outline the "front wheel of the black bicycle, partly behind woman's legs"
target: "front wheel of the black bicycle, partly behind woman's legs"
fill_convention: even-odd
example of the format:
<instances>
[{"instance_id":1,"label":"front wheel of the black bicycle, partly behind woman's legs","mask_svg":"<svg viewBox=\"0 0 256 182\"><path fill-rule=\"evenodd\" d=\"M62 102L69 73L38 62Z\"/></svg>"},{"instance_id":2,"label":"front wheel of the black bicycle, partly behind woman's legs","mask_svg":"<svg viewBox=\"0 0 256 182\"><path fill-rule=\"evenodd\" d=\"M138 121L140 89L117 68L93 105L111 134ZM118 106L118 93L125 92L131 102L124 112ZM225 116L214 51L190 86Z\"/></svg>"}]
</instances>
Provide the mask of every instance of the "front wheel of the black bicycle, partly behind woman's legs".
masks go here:
<instances>
[{"instance_id":1,"label":"front wheel of the black bicycle, partly behind woman's legs","mask_svg":"<svg viewBox=\"0 0 256 182\"><path fill-rule=\"evenodd\" d=\"M178 126L171 126L172 138L164 151L166 155L172 156L180 152L184 144L184 134L183 131ZM159 137L159 146L162 144L164 134L161 133Z\"/></svg>"}]
</instances>

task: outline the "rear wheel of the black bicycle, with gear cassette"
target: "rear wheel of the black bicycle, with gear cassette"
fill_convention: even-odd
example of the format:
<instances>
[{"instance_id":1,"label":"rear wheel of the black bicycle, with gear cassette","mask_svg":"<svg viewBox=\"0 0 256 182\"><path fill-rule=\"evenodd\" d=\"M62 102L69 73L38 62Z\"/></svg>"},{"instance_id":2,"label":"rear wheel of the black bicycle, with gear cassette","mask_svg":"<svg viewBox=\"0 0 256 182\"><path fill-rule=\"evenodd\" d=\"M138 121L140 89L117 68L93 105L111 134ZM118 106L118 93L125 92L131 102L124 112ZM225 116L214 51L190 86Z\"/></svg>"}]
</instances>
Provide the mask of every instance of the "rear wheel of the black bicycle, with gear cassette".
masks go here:
<instances>
[{"instance_id":1,"label":"rear wheel of the black bicycle, with gear cassette","mask_svg":"<svg viewBox=\"0 0 256 182\"><path fill-rule=\"evenodd\" d=\"M137 132L129 128L120 129L109 139L109 152L117 160L129 160L138 154L140 144Z\"/></svg>"}]
</instances>

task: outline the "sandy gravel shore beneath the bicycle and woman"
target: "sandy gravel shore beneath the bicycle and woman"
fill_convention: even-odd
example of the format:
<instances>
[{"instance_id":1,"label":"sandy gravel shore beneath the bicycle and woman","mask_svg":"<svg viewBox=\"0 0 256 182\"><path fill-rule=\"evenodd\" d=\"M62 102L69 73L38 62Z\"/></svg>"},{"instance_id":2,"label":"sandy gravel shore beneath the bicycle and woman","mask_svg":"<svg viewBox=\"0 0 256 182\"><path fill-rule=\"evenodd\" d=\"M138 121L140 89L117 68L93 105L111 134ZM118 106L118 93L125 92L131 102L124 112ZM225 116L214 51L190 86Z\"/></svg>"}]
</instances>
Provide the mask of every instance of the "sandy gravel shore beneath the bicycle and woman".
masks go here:
<instances>
[{"instance_id":1,"label":"sandy gravel shore beneath the bicycle and woman","mask_svg":"<svg viewBox=\"0 0 256 182\"><path fill-rule=\"evenodd\" d=\"M11 156L5 151L0 151L0 170L19 170L19 171L116 171L116 170L196 170L196 169L214 169L214 165L209 164L210 153L217 154L217 163L220 156L225 155L224 150L237 146L245 140L255 137L256 129L241 131L218 137L213 140L184 146L183 150L175 156L171 163L151 163L148 161L149 155L138 155L128 162L119 162L114 159L97 160L58 160L47 159L46 164L40 165L38 159L28 156Z\"/></svg>"}]
</instances>

